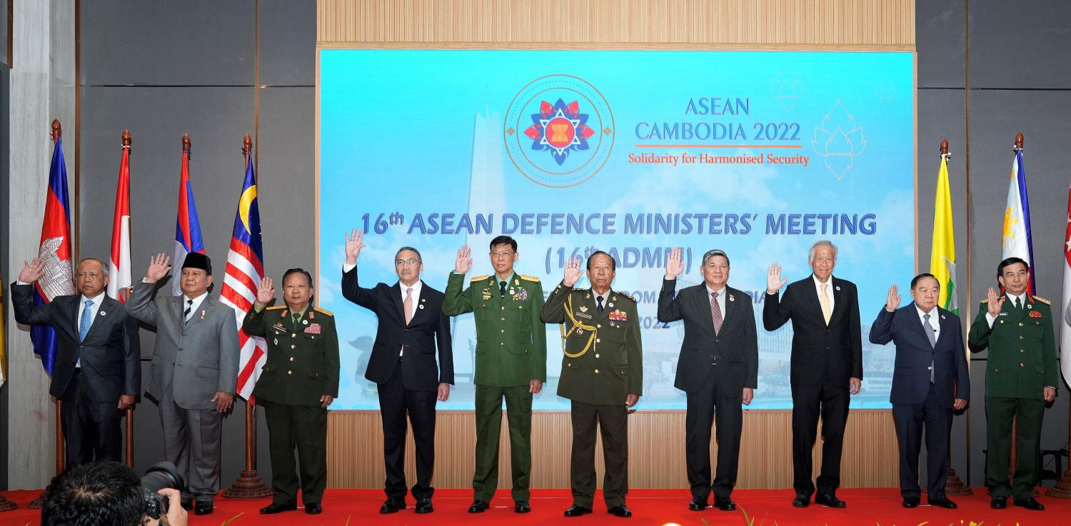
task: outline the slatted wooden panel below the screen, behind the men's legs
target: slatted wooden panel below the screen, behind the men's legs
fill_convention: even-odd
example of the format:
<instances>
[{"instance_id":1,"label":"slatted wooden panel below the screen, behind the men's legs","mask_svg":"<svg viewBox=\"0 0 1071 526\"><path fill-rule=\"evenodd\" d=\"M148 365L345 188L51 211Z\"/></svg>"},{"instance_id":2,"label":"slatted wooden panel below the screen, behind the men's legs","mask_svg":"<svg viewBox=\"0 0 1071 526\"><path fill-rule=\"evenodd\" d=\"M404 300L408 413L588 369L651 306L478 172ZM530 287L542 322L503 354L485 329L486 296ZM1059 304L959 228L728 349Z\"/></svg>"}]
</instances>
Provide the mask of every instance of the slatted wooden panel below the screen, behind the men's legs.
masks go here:
<instances>
[{"instance_id":1,"label":"slatted wooden panel below the screen, behind the men's legs","mask_svg":"<svg viewBox=\"0 0 1071 526\"><path fill-rule=\"evenodd\" d=\"M476 419L471 411L440 411L435 429L436 487L471 487ZM568 411L532 415L532 487L569 487L572 429ZM378 411L331 411L328 418L328 485L377 489L383 484L383 440ZM602 474L602 445L595 465ZM716 449L711 448L711 457ZM821 463L814 449L814 475ZM888 410L855 410L848 417L842 486L899 484L896 433ZM791 486L791 411L744 411L738 487ZM509 431L503 414L499 487L510 487ZM412 435L406 444L406 477L416 480ZM687 487L684 411L636 411L629 417L629 483L632 487ZM601 486L601 477L600 477Z\"/></svg>"}]
</instances>

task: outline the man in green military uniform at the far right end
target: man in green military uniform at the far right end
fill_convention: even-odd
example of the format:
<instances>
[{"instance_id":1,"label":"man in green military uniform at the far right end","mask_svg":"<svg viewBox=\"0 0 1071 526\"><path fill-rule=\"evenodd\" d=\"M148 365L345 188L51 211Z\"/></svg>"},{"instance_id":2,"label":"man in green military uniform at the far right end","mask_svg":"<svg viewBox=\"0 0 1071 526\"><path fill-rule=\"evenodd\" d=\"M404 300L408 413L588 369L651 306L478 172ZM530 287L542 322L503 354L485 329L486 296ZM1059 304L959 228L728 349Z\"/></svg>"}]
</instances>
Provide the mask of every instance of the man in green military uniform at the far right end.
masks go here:
<instances>
[{"instance_id":1,"label":"man in green military uniform at the far right end","mask_svg":"<svg viewBox=\"0 0 1071 526\"><path fill-rule=\"evenodd\" d=\"M990 506L1007 507L1008 497L1028 510L1045 509L1034 498L1038 445L1045 403L1056 399L1056 344L1049 300L1026 294L1030 268L1017 257L997 267L1005 292L990 288L970 326L971 352L990 349L985 363L985 416L989 459L985 485ZM1015 475L1008 481L1012 422L1017 422Z\"/></svg>"}]
</instances>

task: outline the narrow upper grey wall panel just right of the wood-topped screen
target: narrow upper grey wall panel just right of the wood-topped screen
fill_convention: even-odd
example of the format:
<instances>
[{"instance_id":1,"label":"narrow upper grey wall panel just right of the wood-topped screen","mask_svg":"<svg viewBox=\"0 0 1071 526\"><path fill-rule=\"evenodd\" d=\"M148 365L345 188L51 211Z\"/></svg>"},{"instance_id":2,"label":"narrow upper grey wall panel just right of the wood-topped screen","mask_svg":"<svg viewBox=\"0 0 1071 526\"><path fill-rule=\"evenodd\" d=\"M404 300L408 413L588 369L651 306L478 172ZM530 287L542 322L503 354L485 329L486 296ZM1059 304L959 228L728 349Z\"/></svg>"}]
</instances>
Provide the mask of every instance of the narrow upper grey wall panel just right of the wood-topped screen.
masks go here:
<instances>
[{"instance_id":1,"label":"narrow upper grey wall panel just right of the wood-topped screen","mask_svg":"<svg viewBox=\"0 0 1071 526\"><path fill-rule=\"evenodd\" d=\"M965 1L916 2L915 45L920 88L964 87Z\"/></svg>"}]
</instances>

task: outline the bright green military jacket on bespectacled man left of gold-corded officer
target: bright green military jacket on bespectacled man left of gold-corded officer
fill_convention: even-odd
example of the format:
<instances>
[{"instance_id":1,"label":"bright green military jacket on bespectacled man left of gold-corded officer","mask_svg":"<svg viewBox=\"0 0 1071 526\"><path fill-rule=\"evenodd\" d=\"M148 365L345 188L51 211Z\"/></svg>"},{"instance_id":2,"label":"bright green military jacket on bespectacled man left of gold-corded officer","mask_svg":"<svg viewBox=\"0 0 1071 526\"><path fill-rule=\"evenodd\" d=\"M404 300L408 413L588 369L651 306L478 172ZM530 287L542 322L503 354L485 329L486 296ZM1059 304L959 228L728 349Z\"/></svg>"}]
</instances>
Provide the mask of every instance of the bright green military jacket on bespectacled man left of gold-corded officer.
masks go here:
<instances>
[{"instance_id":1,"label":"bright green military jacket on bespectacled man left of gold-corded officer","mask_svg":"<svg viewBox=\"0 0 1071 526\"><path fill-rule=\"evenodd\" d=\"M539 319L543 286L539 279L514 273L506 296L494 275L473 277L462 290L465 274L450 273L442 313L476 318L478 386L519 387L546 381L546 326Z\"/></svg>"}]
</instances>

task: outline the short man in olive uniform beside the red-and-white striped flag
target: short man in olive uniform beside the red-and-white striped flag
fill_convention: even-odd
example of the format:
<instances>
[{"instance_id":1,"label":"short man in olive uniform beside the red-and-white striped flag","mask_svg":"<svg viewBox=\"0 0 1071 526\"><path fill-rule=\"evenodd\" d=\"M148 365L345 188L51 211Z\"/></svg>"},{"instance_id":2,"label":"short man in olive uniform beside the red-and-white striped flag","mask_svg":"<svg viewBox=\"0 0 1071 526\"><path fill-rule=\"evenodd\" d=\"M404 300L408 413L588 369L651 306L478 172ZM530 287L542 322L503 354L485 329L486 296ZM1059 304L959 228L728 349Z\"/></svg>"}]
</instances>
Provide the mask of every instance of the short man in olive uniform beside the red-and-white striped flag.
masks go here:
<instances>
[{"instance_id":1,"label":"short man in olive uniform beside the red-and-white striped flag","mask_svg":"<svg viewBox=\"0 0 1071 526\"><path fill-rule=\"evenodd\" d=\"M271 450L272 504L260 513L298 508L298 483L305 513L322 511L327 486L328 406L338 395L338 335L334 316L310 305L313 276L303 269L283 274L285 305L265 309L275 298L271 277L260 281L257 302L242 330L268 341L268 361L253 395L265 407ZM298 449L300 479L293 463Z\"/></svg>"}]
</instances>

